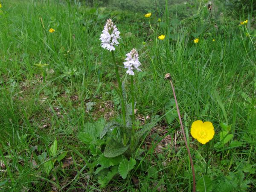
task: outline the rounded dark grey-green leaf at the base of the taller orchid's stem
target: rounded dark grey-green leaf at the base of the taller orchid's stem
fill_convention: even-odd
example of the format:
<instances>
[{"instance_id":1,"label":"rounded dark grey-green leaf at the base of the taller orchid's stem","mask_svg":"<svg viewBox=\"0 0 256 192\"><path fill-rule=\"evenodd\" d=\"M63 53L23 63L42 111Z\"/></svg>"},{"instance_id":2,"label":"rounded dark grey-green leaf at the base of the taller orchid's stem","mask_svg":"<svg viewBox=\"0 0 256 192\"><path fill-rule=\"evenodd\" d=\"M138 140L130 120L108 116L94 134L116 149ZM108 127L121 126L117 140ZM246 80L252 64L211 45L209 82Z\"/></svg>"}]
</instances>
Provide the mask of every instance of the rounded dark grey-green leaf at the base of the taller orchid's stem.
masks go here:
<instances>
[{"instance_id":1,"label":"rounded dark grey-green leaf at the base of the taller orchid's stem","mask_svg":"<svg viewBox=\"0 0 256 192\"><path fill-rule=\"evenodd\" d=\"M124 146L122 143L119 143L116 140L111 139L105 147L104 156L116 157L120 154L123 154L129 148L129 146L130 145Z\"/></svg>"}]
</instances>

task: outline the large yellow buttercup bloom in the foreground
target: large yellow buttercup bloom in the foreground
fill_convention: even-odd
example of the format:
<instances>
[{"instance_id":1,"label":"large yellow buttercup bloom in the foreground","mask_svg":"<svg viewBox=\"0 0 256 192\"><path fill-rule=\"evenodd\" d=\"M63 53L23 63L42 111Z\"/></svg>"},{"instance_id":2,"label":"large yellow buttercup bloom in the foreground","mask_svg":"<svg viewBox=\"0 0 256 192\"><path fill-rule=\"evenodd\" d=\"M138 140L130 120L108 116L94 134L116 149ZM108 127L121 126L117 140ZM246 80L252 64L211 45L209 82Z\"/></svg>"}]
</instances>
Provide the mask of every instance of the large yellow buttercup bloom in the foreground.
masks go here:
<instances>
[{"instance_id":1,"label":"large yellow buttercup bloom in the foreground","mask_svg":"<svg viewBox=\"0 0 256 192\"><path fill-rule=\"evenodd\" d=\"M214 136L214 127L211 122L197 120L192 123L190 133L199 143L205 144Z\"/></svg>"}]
</instances>

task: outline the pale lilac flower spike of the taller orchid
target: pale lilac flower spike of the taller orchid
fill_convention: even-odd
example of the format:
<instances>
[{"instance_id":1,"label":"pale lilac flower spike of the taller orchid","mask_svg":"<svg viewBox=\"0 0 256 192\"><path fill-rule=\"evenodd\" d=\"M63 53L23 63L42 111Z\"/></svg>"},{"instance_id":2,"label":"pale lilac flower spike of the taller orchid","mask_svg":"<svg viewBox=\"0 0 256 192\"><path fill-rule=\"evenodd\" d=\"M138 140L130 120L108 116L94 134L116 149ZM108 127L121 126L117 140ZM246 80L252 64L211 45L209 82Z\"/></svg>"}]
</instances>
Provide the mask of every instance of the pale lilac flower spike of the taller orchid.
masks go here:
<instances>
[{"instance_id":1,"label":"pale lilac flower spike of the taller orchid","mask_svg":"<svg viewBox=\"0 0 256 192\"><path fill-rule=\"evenodd\" d=\"M115 46L118 46L119 42L117 39L120 38L120 32L117 27L114 25L111 19L108 19L102 34L100 35L100 40L102 41L101 46L104 49L108 49L109 51L116 50Z\"/></svg>"}]
</instances>

